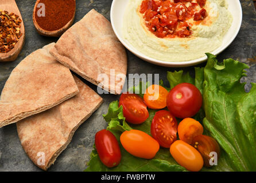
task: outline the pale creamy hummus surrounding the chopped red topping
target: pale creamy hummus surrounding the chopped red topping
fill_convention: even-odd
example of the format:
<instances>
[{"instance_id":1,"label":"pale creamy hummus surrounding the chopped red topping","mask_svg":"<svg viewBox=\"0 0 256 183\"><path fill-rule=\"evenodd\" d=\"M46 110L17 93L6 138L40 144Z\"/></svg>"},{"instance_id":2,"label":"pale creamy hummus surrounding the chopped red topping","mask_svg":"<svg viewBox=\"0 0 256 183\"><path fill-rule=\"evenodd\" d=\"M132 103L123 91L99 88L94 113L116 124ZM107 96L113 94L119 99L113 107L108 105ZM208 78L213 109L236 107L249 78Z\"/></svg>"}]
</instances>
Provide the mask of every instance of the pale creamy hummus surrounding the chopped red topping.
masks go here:
<instances>
[{"instance_id":1,"label":"pale creamy hummus surrounding the chopped red topping","mask_svg":"<svg viewBox=\"0 0 256 183\"><path fill-rule=\"evenodd\" d=\"M195 11L195 14L192 14L193 17L187 20L189 30L187 26L184 26L184 30L192 31L192 34L188 37L179 37L177 33L173 33L176 34L173 38L170 38L172 34L163 38L157 37L146 26L143 18L144 14L140 13L143 1L129 0L123 17L123 38L143 55L161 61L184 62L204 57L204 53L212 52L222 45L224 35L226 35L232 24L232 15L228 11L226 0L207 0L205 5L196 0L190 2L173 1L173 3L184 4L188 9L190 7L188 6L189 3L191 5L193 3L199 4L199 6L196 6L197 11ZM170 0L165 2L167 1L170 2ZM153 2L153 0L150 2ZM162 0L160 2L164 3ZM194 20L197 16L196 13L200 14L202 9L207 11L207 17L200 21ZM174 15L177 17L177 13ZM168 17L166 16L166 18ZM183 17L180 18L183 19ZM158 18L158 21L161 21L161 19ZM184 21L178 19L177 22L181 24ZM175 31L179 31L179 25L177 25Z\"/></svg>"}]
</instances>

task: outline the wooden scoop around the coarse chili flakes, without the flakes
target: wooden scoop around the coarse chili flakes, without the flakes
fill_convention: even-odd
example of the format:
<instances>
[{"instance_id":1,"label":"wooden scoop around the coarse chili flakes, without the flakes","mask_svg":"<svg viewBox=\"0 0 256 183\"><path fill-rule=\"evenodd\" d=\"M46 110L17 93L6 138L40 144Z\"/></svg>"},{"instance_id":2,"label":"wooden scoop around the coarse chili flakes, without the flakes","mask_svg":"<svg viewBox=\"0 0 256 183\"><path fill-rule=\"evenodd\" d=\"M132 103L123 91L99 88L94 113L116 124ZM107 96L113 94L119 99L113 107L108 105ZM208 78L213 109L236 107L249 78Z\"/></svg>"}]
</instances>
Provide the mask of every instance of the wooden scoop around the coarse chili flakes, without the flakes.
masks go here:
<instances>
[{"instance_id":1,"label":"wooden scoop around the coarse chili flakes, without the flakes","mask_svg":"<svg viewBox=\"0 0 256 183\"><path fill-rule=\"evenodd\" d=\"M15 0L0 0L0 9L3 11L8 11L9 13L14 13L18 15L22 20L20 10L18 9ZM22 36L12 50L7 53L0 53L0 62L14 61L18 57L18 54L21 52L25 40L25 28L23 20L20 25Z\"/></svg>"}]
</instances>

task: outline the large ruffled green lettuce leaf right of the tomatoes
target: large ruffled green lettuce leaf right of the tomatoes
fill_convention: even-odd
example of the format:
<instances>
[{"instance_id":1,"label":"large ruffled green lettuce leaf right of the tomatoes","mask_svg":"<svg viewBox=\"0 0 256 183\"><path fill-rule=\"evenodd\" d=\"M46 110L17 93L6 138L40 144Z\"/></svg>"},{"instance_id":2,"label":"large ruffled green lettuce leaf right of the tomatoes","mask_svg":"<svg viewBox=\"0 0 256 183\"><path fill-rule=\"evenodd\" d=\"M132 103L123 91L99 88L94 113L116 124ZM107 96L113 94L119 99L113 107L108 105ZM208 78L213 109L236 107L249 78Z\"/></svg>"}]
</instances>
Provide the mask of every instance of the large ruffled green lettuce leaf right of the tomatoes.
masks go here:
<instances>
[{"instance_id":1,"label":"large ruffled green lettuce leaf right of the tomatoes","mask_svg":"<svg viewBox=\"0 0 256 183\"><path fill-rule=\"evenodd\" d=\"M256 89L249 93L240 79L249 67L226 59L218 64L207 54L204 69L204 127L227 154L228 165L235 171L256 170Z\"/></svg>"}]
</instances>

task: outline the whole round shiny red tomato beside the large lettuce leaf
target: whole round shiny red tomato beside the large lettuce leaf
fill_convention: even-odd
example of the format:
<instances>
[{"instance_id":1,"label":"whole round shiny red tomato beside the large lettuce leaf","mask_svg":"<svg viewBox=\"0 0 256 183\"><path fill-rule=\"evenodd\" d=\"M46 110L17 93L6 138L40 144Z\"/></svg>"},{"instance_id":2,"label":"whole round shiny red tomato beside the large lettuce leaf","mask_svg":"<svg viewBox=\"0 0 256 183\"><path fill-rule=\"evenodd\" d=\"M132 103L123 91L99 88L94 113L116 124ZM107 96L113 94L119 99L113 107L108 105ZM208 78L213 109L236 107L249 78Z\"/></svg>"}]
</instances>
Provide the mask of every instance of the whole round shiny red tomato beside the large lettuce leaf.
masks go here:
<instances>
[{"instance_id":1,"label":"whole round shiny red tomato beside the large lettuce leaf","mask_svg":"<svg viewBox=\"0 0 256 183\"><path fill-rule=\"evenodd\" d=\"M175 117L195 116L202 106L203 98L199 89L191 83L180 83L167 96L167 107Z\"/></svg>"}]
</instances>

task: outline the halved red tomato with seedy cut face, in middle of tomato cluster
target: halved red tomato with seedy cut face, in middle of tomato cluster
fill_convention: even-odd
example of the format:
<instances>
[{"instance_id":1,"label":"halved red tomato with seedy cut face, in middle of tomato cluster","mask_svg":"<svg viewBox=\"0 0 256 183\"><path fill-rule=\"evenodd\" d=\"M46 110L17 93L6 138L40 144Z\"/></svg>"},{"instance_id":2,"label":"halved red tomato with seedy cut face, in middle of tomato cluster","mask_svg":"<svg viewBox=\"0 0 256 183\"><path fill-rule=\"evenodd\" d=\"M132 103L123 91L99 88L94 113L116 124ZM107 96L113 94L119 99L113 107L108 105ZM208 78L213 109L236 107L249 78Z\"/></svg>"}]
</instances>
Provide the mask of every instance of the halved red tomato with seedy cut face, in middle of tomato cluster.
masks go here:
<instances>
[{"instance_id":1,"label":"halved red tomato with seedy cut face, in middle of tomato cluster","mask_svg":"<svg viewBox=\"0 0 256 183\"><path fill-rule=\"evenodd\" d=\"M177 139L176 118L166 110L156 112L152 124L151 134L163 148L170 148L170 145Z\"/></svg>"}]
</instances>

